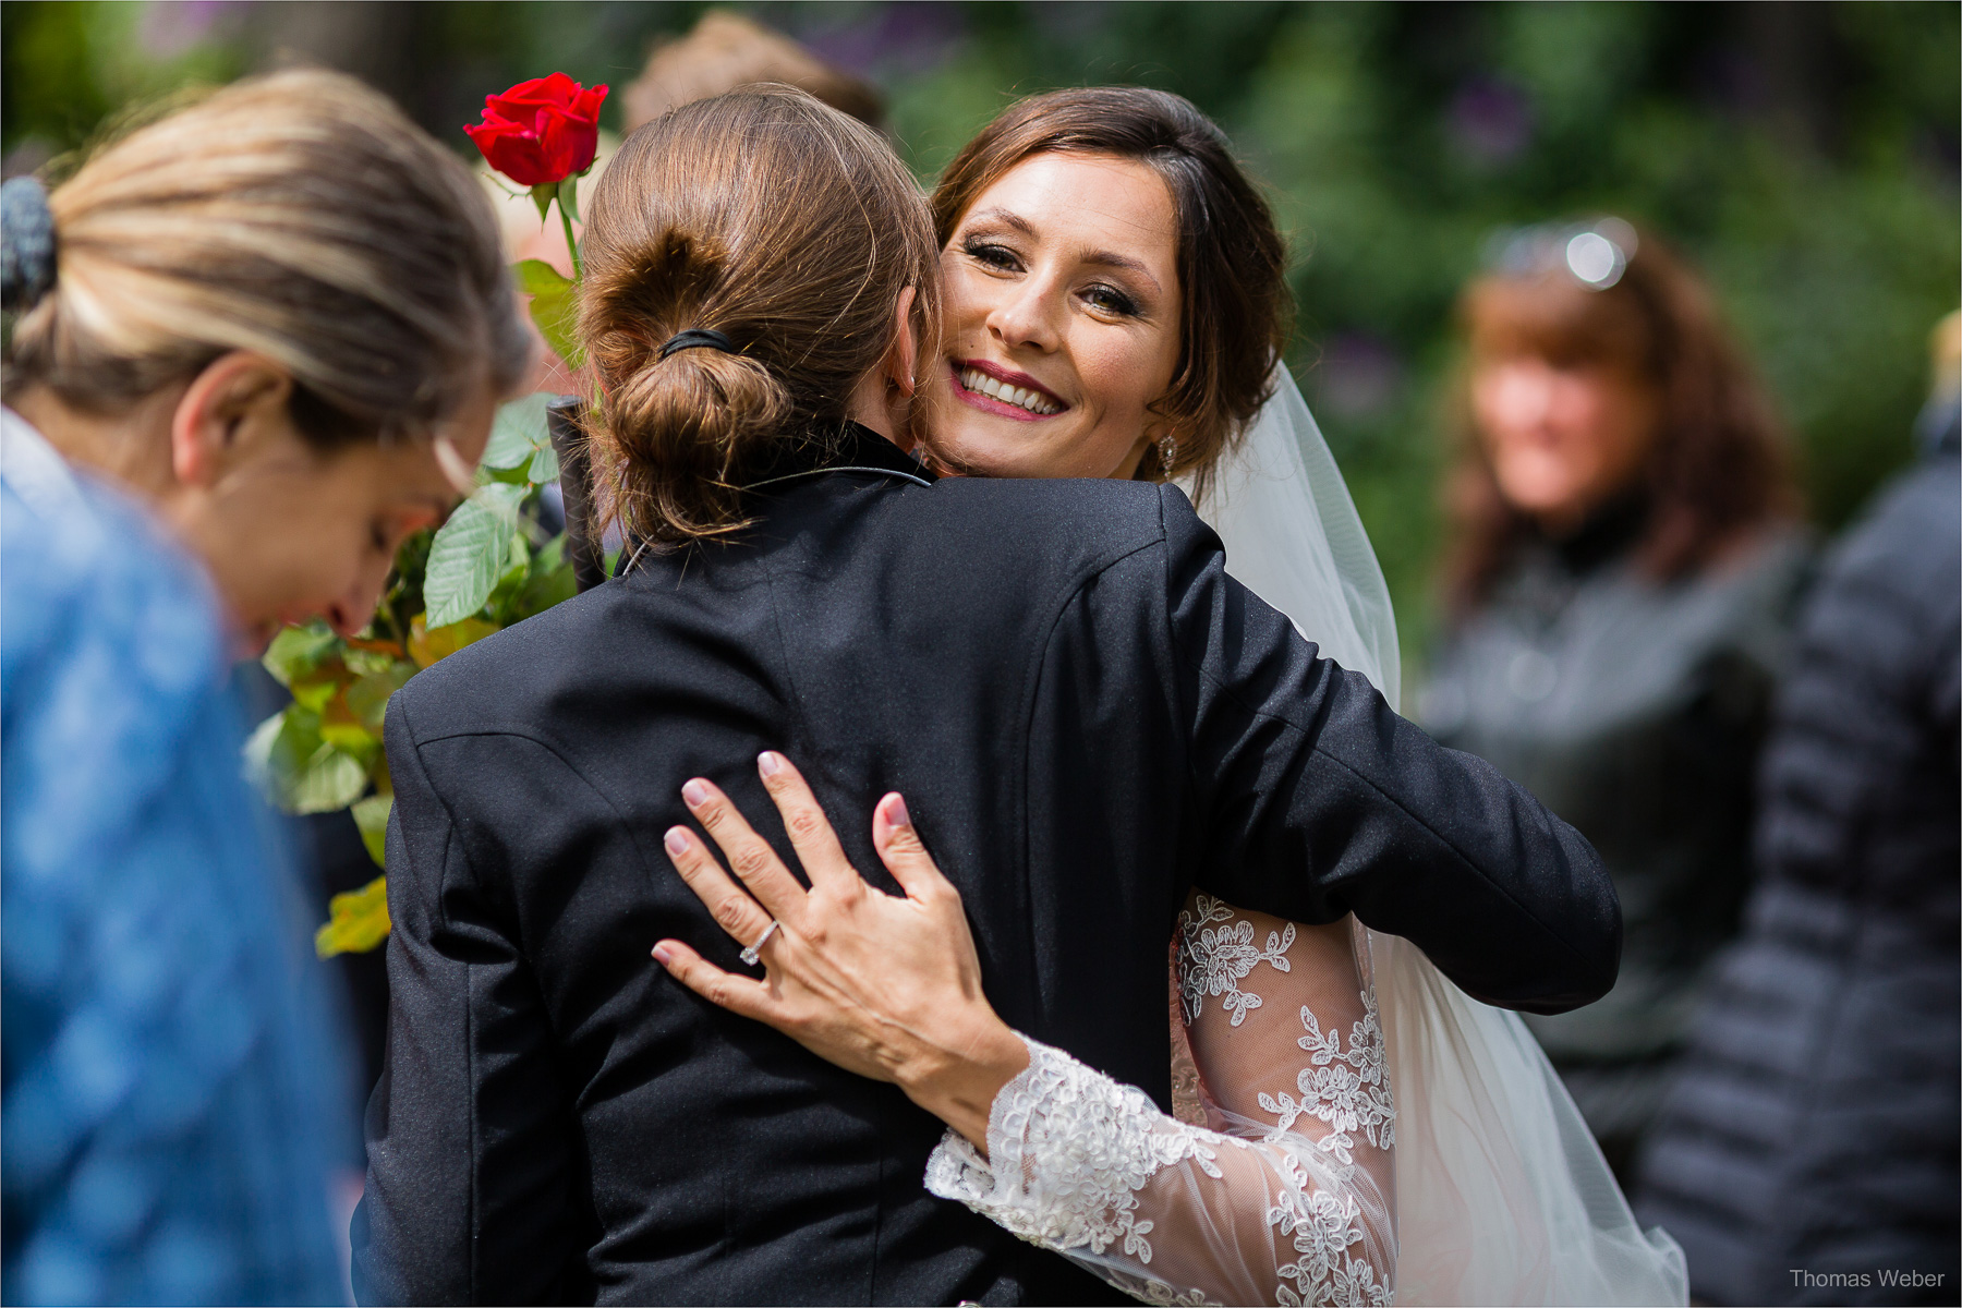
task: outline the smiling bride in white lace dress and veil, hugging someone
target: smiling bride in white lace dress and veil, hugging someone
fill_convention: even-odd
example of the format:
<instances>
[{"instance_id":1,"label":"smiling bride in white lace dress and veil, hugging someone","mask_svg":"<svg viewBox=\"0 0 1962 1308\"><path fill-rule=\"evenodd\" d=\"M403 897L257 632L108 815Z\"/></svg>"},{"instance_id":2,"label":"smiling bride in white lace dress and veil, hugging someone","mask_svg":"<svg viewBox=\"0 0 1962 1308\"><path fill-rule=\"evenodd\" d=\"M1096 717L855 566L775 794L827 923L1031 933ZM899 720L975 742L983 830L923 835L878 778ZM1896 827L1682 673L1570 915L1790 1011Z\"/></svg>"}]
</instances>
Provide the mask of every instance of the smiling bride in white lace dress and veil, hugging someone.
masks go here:
<instances>
[{"instance_id":1,"label":"smiling bride in white lace dress and veil, hugging someone","mask_svg":"<svg viewBox=\"0 0 1962 1308\"><path fill-rule=\"evenodd\" d=\"M1381 571L1279 363L1285 247L1213 124L1162 92L1032 96L950 165L934 212L944 327L920 453L983 477L1179 478L1232 573L1393 700ZM940 1112L936 1194L1146 1302L1683 1302L1681 1253L1634 1226L1519 1018L1407 941L1193 892L1167 1114L995 1018L904 800L877 806L873 841L908 898L861 896L797 769L765 753L761 771L808 894L700 779L691 814L767 912L685 828L671 849L767 979L681 941L655 957Z\"/></svg>"}]
</instances>

